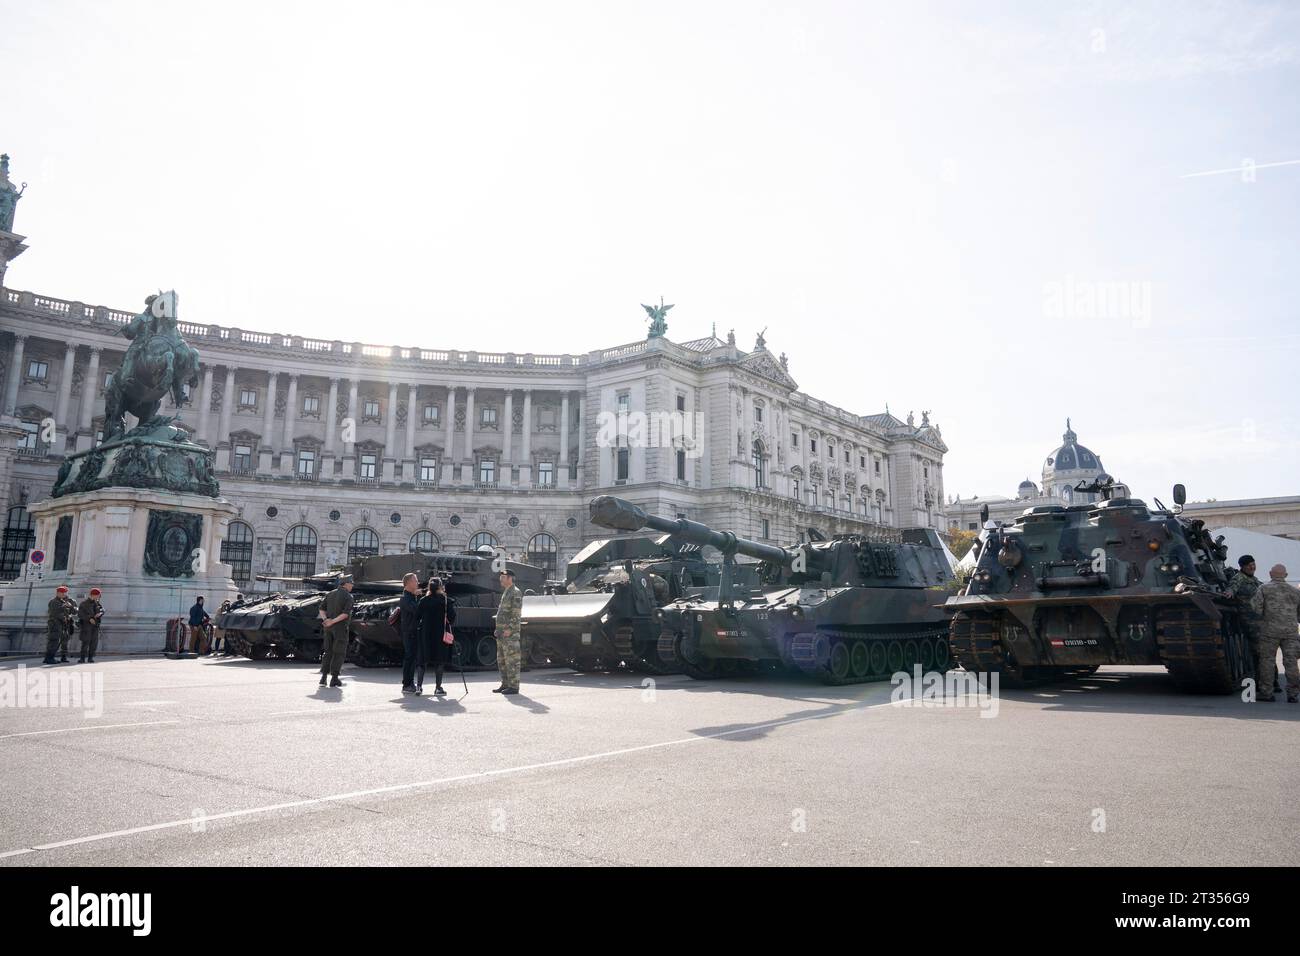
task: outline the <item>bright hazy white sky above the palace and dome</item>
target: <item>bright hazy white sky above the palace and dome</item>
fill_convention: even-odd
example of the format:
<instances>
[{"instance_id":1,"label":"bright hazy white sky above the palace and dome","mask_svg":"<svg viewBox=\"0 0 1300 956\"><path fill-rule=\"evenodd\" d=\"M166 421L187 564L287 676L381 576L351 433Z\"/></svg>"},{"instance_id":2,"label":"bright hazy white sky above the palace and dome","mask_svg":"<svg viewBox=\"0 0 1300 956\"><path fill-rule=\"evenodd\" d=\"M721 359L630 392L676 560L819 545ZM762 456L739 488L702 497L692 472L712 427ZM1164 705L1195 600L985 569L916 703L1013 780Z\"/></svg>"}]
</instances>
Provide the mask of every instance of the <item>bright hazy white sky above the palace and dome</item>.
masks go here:
<instances>
[{"instance_id":1,"label":"bright hazy white sky above the palace and dome","mask_svg":"<svg viewBox=\"0 0 1300 956\"><path fill-rule=\"evenodd\" d=\"M1300 5L0 0L5 284L381 345L766 329L949 494L1297 494ZM1270 165L1280 164L1280 165ZM1222 170L1222 172L1217 172ZM1199 173L1208 173L1199 176Z\"/></svg>"}]
</instances>

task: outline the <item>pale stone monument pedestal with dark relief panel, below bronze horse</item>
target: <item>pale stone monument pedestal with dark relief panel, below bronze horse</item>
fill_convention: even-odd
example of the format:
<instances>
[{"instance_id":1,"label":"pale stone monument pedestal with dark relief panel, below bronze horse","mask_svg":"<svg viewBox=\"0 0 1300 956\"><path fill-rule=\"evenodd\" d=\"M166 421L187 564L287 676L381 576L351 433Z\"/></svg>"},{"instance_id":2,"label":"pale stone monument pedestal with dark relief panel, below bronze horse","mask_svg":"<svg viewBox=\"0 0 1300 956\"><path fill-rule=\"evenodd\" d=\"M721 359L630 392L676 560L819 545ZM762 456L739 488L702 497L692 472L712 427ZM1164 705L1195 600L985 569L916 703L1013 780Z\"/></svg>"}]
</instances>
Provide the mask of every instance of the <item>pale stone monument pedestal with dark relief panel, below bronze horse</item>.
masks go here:
<instances>
[{"instance_id":1,"label":"pale stone monument pedestal with dark relief panel, below bronze horse","mask_svg":"<svg viewBox=\"0 0 1300 956\"><path fill-rule=\"evenodd\" d=\"M188 619L198 596L216 619L221 602L238 593L230 566L220 563L237 514L222 498L100 488L47 498L30 512L46 571L32 585L26 626L27 581L0 587L0 653L44 653L46 606L61 584L78 604L91 588L103 592L100 654L160 653L168 619ZM70 648L79 648L77 635Z\"/></svg>"}]
</instances>

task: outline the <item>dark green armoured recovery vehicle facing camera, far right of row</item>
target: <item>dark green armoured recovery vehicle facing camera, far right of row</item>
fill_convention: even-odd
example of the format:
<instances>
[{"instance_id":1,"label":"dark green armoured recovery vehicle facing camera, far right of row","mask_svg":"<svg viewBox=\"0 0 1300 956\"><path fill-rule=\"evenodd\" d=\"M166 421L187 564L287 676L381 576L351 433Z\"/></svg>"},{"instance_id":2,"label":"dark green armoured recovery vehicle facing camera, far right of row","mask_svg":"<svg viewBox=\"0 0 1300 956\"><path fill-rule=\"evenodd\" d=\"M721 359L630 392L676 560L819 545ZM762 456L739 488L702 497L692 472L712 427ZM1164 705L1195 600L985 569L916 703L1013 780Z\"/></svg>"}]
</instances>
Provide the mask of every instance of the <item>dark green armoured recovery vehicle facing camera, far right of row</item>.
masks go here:
<instances>
[{"instance_id":1,"label":"dark green armoured recovery vehicle facing camera, far right of row","mask_svg":"<svg viewBox=\"0 0 1300 956\"><path fill-rule=\"evenodd\" d=\"M1231 693L1249 672L1227 550L1204 522L1128 496L1113 479L1079 483L1092 503L1027 509L988 522L965 589L946 602L949 643L970 671L1023 685L1101 665L1164 665L1193 693Z\"/></svg>"}]
</instances>

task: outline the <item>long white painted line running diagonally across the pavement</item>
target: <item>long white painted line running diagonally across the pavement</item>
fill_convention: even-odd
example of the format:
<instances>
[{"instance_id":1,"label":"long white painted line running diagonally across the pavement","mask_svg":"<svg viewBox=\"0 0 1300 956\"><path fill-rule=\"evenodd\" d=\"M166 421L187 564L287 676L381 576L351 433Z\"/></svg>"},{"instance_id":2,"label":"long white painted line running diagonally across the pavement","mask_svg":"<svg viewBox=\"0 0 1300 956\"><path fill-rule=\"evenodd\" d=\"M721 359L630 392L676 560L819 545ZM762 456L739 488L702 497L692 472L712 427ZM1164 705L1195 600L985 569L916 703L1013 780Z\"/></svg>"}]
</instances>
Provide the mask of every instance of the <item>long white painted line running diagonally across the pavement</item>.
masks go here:
<instances>
[{"instance_id":1,"label":"long white painted line running diagonally across the pavement","mask_svg":"<svg viewBox=\"0 0 1300 956\"><path fill-rule=\"evenodd\" d=\"M343 800L358 800L360 797L378 796L381 793L398 793L403 790L421 790L425 787L437 787L446 783L460 783L462 780L476 780L486 779L491 777L506 777L507 774L523 774L529 770L546 770L550 767L560 767L572 763L584 763L593 760L606 760L608 757L623 757L629 753L644 753L645 750L658 750L666 747L680 747L682 744L696 744L702 740L716 740L719 737L729 737L736 734L753 734L758 730L770 730L772 727L785 727L794 723L803 723L805 721L822 721L828 717L838 717L840 714L848 714L854 710L868 710L872 708L887 708L888 701L881 704L857 704L854 706L844 708L842 710L835 710L828 714L806 714L803 717L789 717L781 721L770 721L768 723L753 723L745 727L737 727L736 730L724 730L718 734L699 734L689 737L676 737L673 740L660 740L656 744L640 744L637 747L624 747L619 750L603 750L601 753L585 753L580 757L560 757L559 760L549 760L541 763L524 763L517 767L502 767L499 770L476 770L471 774L456 774L455 777L439 777L432 780L416 780L413 783L394 783L387 787L372 787L370 790L354 790L347 793L332 793L322 797L307 797L306 800L290 800L282 804L268 804L265 806L250 806L244 810L226 810L225 813L211 813L203 819L205 823L211 823L218 819L237 819L239 817L251 817L259 813L274 813L276 810L294 810L302 806L316 806L320 804L333 804L341 803ZM75 836L70 840L58 840L57 843L40 843L34 847L22 847L21 849L9 849L0 853L0 860L8 857L23 856L25 853L34 853L36 851L46 849L61 849L64 847L78 847L86 843L99 843L101 840L110 840L116 836L134 836L136 834L148 834L159 830L176 830L179 827L194 826L194 817L186 817L185 819L170 819L165 823L148 823L146 826L134 826L125 830L110 830L103 834L91 834L90 836Z\"/></svg>"}]
</instances>

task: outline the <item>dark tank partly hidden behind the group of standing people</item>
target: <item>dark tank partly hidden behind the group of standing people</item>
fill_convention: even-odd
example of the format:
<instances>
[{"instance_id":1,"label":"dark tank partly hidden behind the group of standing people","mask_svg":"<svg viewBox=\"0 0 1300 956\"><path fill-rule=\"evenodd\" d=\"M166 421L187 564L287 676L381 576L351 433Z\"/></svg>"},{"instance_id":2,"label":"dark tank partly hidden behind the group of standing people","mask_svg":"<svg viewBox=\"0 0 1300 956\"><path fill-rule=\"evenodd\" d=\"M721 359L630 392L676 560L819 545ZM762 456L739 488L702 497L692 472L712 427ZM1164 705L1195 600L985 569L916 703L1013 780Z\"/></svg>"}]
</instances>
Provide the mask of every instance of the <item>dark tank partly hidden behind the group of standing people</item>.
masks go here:
<instances>
[{"instance_id":1,"label":"dark tank partly hidden behind the group of standing people","mask_svg":"<svg viewBox=\"0 0 1300 956\"><path fill-rule=\"evenodd\" d=\"M441 578L456 604L452 633L456 645L452 661L465 670L497 666L497 640L493 637L497 605L500 604L500 567L515 572L515 585L525 594L537 593L546 572L533 564L500 561L491 551L415 551L360 558L352 563L356 580L365 580L370 597L352 609L352 633L358 640L358 663L374 667L402 663L402 636L389 627L389 615L402 596L402 578L415 572L422 588L429 578ZM525 598L526 600L526 598Z\"/></svg>"}]
</instances>

